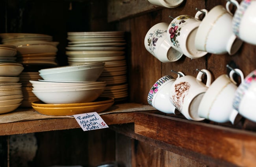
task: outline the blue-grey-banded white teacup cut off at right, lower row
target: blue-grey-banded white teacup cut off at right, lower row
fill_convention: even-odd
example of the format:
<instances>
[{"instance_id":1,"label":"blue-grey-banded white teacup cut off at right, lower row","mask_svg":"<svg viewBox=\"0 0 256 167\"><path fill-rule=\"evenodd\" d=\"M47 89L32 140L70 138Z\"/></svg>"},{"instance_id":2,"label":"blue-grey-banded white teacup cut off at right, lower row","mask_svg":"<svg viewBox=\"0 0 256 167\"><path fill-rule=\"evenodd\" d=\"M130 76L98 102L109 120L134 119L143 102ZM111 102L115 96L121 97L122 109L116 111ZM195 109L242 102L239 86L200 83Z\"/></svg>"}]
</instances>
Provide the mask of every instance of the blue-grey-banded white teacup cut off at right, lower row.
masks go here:
<instances>
[{"instance_id":1,"label":"blue-grey-banded white teacup cut off at right, lower row","mask_svg":"<svg viewBox=\"0 0 256 167\"><path fill-rule=\"evenodd\" d=\"M233 101L233 108L245 118L256 122L256 70L247 75L238 86Z\"/></svg>"}]
</instances>

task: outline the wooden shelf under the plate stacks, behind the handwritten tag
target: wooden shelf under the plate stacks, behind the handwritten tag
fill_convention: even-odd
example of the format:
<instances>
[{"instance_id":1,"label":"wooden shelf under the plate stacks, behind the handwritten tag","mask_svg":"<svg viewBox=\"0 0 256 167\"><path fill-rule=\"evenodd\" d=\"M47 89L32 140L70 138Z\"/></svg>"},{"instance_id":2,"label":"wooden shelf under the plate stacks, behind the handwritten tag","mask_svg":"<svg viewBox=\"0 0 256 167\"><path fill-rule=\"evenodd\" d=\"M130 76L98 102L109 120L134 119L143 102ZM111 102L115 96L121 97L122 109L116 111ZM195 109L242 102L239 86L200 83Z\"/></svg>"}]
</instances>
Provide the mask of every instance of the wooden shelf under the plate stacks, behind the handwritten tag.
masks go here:
<instances>
[{"instance_id":1,"label":"wooden shelf under the plate stacks, behind the handwritten tag","mask_svg":"<svg viewBox=\"0 0 256 167\"><path fill-rule=\"evenodd\" d=\"M108 125L132 123L134 111L143 110L154 110L154 108L137 103L125 103L113 105L99 115ZM45 116L33 108L19 108L14 112L0 115L0 136L72 128L80 128L74 117Z\"/></svg>"}]
</instances>

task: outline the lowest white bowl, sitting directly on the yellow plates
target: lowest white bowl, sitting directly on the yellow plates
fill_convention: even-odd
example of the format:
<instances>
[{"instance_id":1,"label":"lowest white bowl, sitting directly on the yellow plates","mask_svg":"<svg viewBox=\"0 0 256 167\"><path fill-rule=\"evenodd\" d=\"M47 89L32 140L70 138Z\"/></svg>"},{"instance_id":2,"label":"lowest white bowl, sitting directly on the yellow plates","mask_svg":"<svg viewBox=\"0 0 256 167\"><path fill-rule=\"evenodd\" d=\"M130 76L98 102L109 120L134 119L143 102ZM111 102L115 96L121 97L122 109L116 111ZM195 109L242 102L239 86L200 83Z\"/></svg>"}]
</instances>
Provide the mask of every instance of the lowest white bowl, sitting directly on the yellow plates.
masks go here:
<instances>
[{"instance_id":1,"label":"lowest white bowl, sitting directly on the yellow plates","mask_svg":"<svg viewBox=\"0 0 256 167\"><path fill-rule=\"evenodd\" d=\"M97 99L105 87L78 90L37 91L32 90L38 99L47 104L87 103Z\"/></svg>"}]
</instances>

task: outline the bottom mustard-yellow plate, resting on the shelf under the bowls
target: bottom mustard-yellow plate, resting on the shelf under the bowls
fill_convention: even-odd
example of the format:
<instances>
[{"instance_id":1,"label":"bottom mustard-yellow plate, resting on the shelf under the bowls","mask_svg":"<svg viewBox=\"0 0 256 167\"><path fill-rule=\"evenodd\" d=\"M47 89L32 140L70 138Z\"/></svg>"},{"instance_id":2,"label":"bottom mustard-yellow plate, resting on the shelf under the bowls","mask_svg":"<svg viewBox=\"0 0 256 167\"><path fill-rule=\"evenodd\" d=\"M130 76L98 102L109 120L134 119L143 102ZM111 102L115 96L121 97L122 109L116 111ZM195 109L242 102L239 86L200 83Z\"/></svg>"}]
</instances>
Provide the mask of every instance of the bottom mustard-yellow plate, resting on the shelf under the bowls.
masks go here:
<instances>
[{"instance_id":1,"label":"bottom mustard-yellow plate, resting on the shelf under the bowls","mask_svg":"<svg viewBox=\"0 0 256 167\"><path fill-rule=\"evenodd\" d=\"M32 107L39 113L48 116L72 116L87 112L103 112L114 104L114 101L101 105L76 106L76 107Z\"/></svg>"}]
</instances>

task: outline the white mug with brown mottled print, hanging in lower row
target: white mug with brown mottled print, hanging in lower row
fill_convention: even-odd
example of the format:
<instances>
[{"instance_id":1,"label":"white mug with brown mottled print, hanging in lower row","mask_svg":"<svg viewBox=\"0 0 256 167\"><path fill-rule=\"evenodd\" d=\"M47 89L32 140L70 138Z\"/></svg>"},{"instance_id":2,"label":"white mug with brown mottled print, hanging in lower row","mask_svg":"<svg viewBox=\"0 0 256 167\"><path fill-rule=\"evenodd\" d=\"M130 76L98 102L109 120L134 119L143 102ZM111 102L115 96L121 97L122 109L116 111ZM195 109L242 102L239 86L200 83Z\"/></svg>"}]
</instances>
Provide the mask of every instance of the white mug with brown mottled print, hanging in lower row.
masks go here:
<instances>
[{"instance_id":1,"label":"white mug with brown mottled print, hanging in lower row","mask_svg":"<svg viewBox=\"0 0 256 167\"><path fill-rule=\"evenodd\" d=\"M202 75L206 74L206 84L202 82ZM202 95L211 85L211 73L208 70L201 70L197 77L186 75L174 81L170 88L169 97L173 105L187 119L202 121L204 118L198 116L198 106Z\"/></svg>"}]
</instances>

